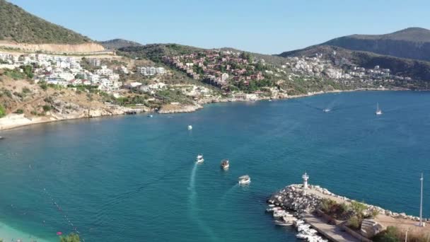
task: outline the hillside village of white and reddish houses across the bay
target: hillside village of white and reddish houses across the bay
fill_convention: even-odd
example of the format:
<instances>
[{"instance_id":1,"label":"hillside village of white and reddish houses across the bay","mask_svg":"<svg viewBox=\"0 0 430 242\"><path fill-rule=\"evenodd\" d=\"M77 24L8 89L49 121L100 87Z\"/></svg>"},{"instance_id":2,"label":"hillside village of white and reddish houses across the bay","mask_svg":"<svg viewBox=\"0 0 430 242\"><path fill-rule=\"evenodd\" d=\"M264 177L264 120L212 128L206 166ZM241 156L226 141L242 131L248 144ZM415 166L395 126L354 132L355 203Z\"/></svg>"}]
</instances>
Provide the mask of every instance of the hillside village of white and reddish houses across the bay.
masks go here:
<instances>
[{"instance_id":1,"label":"hillside village of white and reddish houses across the bay","mask_svg":"<svg viewBox=\"0 0 430 242\"><path fill-rule=\"evenodd\" d=\"M289 95L309 94L318 90L319 82L331 81L334 89L389 88L401 81L412 81L408 76L390 73L379 66L365 69L347 59L315 54L313 57L286 57L281 65L270 64L246 52L205 50L178 56L163 56L166 66L160 64L111 65L110 61L96 57L70 57L52 54L11 54L0 52L0 69L30 71L34 83L64 88L96 89L115 98L127 93L146 93L146 99L163 99L159 91L180 91L189 96L182 100L203 103L230 100L257 100L286 98ZM172 69L170 69L172 68ZM197 81L192 85L166 83L174 70ZM209 91L204 83L218 88ZM329 89L330 91L330 89ZM165 102L164 102L165 103ZM177 102L173 102L177 103ZM186 101L186 103L190 103ZM139 103L137 103L139 104Z\"/></svg>"}]
</instances>

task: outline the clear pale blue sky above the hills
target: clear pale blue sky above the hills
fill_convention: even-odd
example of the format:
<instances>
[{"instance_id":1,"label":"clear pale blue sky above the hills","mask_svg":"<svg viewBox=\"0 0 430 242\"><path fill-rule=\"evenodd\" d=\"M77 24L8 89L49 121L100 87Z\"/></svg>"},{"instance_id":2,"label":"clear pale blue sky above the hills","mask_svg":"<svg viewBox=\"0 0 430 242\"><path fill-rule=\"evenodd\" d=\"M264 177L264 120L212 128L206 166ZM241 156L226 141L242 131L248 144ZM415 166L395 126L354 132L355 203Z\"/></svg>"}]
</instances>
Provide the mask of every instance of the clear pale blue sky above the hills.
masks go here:
<instances>
[{"instance_id":1,"label":"clear pale blue sky above the hills","mask_svg":"<svg viewBox=\"0 0 430 242\"><path fill-rule=\"evenodd\" d=\"M430 28L430 1L8 0L93 40L278 54L343 35Z\"/></svg>"}]
</instances>

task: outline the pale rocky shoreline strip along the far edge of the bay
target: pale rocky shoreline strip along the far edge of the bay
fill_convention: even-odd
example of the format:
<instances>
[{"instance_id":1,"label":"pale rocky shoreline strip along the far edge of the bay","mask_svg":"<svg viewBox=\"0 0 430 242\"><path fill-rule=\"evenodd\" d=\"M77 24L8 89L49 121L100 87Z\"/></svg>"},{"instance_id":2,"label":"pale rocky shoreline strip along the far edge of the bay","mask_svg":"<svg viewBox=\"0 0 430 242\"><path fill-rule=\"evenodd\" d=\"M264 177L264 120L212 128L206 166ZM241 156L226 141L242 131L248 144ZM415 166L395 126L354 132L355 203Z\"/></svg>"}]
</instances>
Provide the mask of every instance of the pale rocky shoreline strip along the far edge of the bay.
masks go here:
<instances>
[{"instance_id":1,"label":"pale rocky shoreline strip along the far edge of the bay","mask_svg":"<svg viewBox=\"0 0 430 242\"><path fill-rule=\"evenodd\" d=\"M232 102L248 102L248 101L261 101L261 100L287 100L287 99L295 99L295 98L306 98L310 96L317 96L322 94L329 94L329 93L346 93L346 92L356 92L356 91L411 91L407 88L357 88L357 89L351 89L351 90L332 90L332 91L318 91L318 92L311 92L307 94L299 94L294 96L279 96L277 98L272 97L265 97L265 98L257 98L255 100L238 100L238 99L232 99L232 98L223 98L220 100L216 99L202 99L200 102L198 101L195 105L183 105L183 106L176 106L176 107L170 107L168 110L158 110L157 112L146 112L143 109L137 109L137 108L125 108L120 107L120 111L117 111L115 113L102 113L103 110L94 110L95 113L81 113L78 115L75 115L73 117L35 117L33 119L30 119L28 117L24 117L24 115L18 115L18 114L8 114L6 117L0 118L0 131L8 130L8 129L16 129L19 127L25 127L29 125L37 125L47 122L59 122L64 120L77 120L82 118L91 118L91 117L105 117L105 116L112 116L112 115L127 115L127 111L129 110L138 110L138 113L158 113L158 114L172 114L172 113L193 113L197 110L200 110L204 108L204 105L210 104L210 103L232 103ZM423 90L426 91L426 90ZM108 107L106 107L108 108ZM91 110L93 111L93 110ZM19 117L18 117L19 116ZM15 120L15 122L13 122Z\"/></svg>"}]
</instances>

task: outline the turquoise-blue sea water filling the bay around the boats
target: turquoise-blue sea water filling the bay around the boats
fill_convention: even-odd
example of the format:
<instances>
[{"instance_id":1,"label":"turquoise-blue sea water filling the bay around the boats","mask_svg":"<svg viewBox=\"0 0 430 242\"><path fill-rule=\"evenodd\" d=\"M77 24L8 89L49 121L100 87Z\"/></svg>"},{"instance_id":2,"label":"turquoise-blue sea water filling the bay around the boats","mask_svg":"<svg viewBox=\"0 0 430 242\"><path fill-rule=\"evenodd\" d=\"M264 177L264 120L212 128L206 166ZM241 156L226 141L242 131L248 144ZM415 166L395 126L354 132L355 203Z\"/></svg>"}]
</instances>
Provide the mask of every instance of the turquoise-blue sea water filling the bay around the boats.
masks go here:
<instances>
[{"instance_id":1,"label":"turquoise-blue sea water filling the bay around the boats","mask_svg":"<svg viewBox=\"0 0 430 242\"><path fill-rule=\"evenodd\" d=\"M74 228L85 241L296 241L272 224L265 200L305 171L311 184L414 215L424 172L430 217L429 134L430 93L412 91L13 129L0 134L0 222L23 241L57 241ZM229 171L219 167L225 158ZM240 187L245 174L252 183Z\"/></svg>"}]
</instances>

